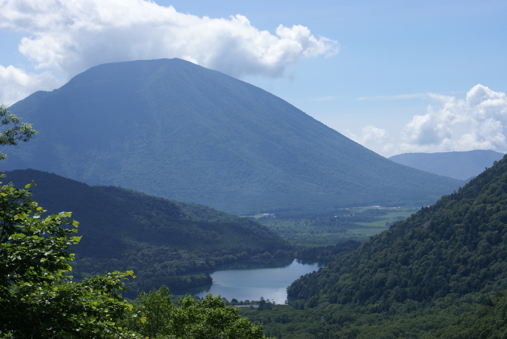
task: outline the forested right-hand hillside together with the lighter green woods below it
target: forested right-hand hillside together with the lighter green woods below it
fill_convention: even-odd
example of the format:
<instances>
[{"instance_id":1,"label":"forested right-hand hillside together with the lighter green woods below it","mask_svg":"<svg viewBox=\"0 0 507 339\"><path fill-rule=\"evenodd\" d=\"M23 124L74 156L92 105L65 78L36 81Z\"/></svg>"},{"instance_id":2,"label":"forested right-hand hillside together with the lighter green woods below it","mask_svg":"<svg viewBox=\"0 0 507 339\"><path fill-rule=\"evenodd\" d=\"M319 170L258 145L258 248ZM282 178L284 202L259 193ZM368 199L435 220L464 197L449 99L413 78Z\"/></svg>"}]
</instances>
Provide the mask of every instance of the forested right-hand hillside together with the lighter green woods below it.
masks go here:
<instances>
[{"instance_id":1,"label":"forested right-hand hillside together with the lighter green woods below it","mask_svg":"<svg viewBox=\"0 0 507 339\"><path fill-rule=\"evenodd\" d=\"M295 281L294 308L245 310L291 338L501 338L507 158L350 254Z\"/></svg>"}]
</instances>

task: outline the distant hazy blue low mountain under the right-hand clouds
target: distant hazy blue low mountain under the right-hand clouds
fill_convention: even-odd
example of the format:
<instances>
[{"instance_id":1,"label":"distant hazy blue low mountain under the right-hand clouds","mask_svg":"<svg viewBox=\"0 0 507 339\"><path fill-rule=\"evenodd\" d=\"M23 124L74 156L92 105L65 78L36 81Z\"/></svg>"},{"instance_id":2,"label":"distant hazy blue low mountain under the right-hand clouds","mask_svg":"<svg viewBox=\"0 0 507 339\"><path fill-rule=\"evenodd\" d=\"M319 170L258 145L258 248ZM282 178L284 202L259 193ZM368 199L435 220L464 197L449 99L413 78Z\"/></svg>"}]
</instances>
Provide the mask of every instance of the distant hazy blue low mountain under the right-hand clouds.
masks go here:
<instances>
[{"instance_id":1,"label":"distant hazy blue low mountain under the right-hand clouds","mask_svg":"<svg viewBox=\"0 0 507 339\"><path fill-rule=\"evenodd\" d=\"M476 149L467 152L404 153L389 159L422 171L469 180L503 156L503 153L494 150Z\"/></svg>"}]
</instances>

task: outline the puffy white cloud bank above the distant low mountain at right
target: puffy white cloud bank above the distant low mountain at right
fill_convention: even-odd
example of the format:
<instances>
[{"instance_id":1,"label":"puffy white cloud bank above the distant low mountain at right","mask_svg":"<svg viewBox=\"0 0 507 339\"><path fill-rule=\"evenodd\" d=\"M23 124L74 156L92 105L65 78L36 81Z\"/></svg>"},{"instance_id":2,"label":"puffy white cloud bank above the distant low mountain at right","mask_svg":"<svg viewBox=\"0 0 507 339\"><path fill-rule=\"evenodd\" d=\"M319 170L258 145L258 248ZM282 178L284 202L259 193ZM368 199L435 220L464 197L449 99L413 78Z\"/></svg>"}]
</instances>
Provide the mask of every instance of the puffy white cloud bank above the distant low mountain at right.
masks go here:
<instances>
[{"instance_id":1,"label":"puffy white cloud bank above the distant low mountain at right","mask_svg":"<svg viewBox=\"0 0 507 339\"><path fill-rule=\"evenodd\" d=\"M483 85L465 99L428 94L436 106L416 115L399 133L365 127L356 141L385 156L409 152L493 149L507 153L507 96Z\"/></svg>"}]
</instances>

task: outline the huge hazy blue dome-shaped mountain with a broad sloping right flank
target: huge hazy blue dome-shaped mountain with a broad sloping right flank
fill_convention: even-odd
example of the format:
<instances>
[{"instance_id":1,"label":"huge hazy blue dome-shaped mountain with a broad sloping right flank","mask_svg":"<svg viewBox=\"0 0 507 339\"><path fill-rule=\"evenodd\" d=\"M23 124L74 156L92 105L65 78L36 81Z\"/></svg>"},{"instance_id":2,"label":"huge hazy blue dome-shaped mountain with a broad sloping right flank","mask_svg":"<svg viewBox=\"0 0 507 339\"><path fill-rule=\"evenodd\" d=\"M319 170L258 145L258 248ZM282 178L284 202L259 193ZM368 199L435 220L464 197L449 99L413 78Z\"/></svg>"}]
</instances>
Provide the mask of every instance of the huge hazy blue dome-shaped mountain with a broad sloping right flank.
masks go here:
<instances>
[{"instance_id":1,"label":"huge hazy blue dome-shaped mountain with a broad sloping right flank","mask_svg":"<svg viewBox=\"0 0 507 339\"><path fill-rule=\"evenodd\" d=\"M389 161L282 99L179 59L110 63L10 107L33 168L229 211L427 205L460 180Z\"/></svg>"}]
</instances>

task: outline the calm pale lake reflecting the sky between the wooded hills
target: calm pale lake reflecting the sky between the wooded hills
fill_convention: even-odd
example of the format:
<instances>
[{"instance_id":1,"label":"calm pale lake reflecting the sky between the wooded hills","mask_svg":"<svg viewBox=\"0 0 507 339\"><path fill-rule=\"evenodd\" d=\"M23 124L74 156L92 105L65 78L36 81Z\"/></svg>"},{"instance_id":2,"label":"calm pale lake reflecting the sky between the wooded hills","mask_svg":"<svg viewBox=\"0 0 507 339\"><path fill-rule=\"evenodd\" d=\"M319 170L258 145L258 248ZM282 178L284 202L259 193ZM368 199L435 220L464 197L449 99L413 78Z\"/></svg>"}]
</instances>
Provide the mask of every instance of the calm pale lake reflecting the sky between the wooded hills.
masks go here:
<instances>
[{"instance_id":1,"label":"calm pale lake reflecting the sky between the wooded hills","mask_svg":"<svg viewBox=\"0 0 507 339\"><path fill-rule=\"evenodd\" d=\"M318 270L317 262L299 259L247 260L217 267L209 272L213 283L198 288L174 291L174 294L198 295L212 293L214 296L231 300L274 301L284 304L287 299L286 288L302 275Z\"/></svg>"}]
</instances>

